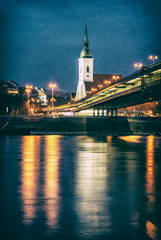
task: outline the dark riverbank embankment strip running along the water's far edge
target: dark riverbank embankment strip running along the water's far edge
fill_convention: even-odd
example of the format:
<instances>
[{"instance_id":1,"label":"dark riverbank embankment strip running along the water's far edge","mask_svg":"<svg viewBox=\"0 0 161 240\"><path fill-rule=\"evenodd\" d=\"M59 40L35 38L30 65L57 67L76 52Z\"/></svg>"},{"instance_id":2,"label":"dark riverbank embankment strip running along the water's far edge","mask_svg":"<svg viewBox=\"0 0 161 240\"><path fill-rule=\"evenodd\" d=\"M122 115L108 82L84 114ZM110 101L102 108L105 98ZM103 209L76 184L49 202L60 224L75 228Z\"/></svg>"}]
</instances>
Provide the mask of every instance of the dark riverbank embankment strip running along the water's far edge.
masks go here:
<instances>
[{"instance_id":1,"label":"dark riverbank embankment strip running along the water's far edge","mask_svg":"<svg viewBox=\"0 0 161 240\"><path fill-rule=\"evenodd\" d=\"M161 118L1 116L0 134L161 135Z\"/></svg>"}]
</instances>

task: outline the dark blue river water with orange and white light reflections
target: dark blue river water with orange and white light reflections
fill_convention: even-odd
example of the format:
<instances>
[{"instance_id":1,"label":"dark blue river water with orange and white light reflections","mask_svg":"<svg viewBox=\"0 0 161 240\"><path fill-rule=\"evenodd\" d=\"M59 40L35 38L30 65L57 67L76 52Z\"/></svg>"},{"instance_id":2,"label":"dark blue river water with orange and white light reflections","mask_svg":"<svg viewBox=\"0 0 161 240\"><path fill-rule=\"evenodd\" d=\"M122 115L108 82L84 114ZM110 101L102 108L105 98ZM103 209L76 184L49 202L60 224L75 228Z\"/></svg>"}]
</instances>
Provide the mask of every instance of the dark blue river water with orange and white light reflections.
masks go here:
<instances>
[{"instance_id":1,"label":"dark blue river water with orange and white light reflections","mask_svg":"<svg viewBox=\"0 0 161 240\"><path fill-rule=\"evenodd\" d=\"M161 239L161 138L0 136L0 239Z\"/></svg>"}]
</instances>

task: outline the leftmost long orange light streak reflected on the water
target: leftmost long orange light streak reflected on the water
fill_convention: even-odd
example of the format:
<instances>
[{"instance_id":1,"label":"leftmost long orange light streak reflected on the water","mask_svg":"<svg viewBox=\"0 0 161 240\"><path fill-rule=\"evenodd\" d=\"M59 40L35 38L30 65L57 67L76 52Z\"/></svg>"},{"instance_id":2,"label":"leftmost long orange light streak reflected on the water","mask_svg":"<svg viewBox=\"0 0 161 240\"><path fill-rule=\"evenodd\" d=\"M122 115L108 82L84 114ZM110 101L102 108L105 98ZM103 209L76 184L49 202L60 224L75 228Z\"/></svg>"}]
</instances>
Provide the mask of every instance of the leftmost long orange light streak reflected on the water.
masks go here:
<instances>
[{"instance_id":1,"label":"leftmost long orange light streak reflected on the water","mask_svg":"<svg viewBox=\"0 0 161 240\"><path fill-rule=\"evenodd\" d=\"M39 159L40 137L22 137L21 165L21 199L24 212L23 219L31 223L36 215L36 201L39 169L36 160Z\"/></svg>"}]
</instances>

